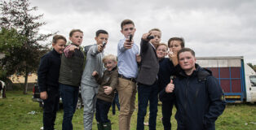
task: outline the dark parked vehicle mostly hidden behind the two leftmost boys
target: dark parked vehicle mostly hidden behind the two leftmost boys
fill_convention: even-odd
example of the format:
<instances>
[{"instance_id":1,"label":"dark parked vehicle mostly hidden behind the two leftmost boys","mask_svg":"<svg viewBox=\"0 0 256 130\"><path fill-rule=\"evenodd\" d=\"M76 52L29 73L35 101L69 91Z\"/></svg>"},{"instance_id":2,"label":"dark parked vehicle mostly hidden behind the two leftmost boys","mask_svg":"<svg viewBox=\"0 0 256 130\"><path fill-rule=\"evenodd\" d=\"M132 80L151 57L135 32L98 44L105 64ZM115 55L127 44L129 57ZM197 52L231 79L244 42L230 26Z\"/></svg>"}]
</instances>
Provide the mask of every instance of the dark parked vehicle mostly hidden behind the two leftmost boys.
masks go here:
<instances>
[{"instance_id":1,"label":"dark parked vehicle mostly hidden behind the two leftmost boys","mask_svg":"<svg viewBox=\"0 0 256 130\"><path fill-rule=\"evenodd\" d=\"M40 98L39 86L38 83L33 86L33 102L39 102L39 106L43 107L42 99ZM60 98L60 105L62 105L62 99ZM82 108L82 97L81 97L81 88L79 87L78 101L77 101L77 109Z\"/></svg>"}]
</instances>

